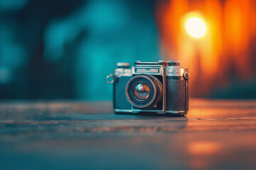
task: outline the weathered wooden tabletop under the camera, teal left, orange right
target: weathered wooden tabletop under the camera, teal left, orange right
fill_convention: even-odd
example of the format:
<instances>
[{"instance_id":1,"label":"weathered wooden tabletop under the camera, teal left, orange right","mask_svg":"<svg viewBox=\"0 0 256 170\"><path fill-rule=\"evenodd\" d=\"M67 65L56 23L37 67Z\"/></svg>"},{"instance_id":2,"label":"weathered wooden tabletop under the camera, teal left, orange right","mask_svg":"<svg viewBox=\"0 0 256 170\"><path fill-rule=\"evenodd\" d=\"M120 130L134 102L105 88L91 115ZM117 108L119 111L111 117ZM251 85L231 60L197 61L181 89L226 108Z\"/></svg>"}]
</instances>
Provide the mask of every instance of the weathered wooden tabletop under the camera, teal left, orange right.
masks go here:
<instances>
[{"instance_id":1,"label":"weathered wooden tabletop under the camera, teal left, orange right","mask_svg":"<svg viewBox=\"0 0 256 170\"><path fill-rule=\"evenodd\" d=\"M256 101L191 99L186 118L2 101L0 169L256 169Z\"/></svg>"}]
</instances>

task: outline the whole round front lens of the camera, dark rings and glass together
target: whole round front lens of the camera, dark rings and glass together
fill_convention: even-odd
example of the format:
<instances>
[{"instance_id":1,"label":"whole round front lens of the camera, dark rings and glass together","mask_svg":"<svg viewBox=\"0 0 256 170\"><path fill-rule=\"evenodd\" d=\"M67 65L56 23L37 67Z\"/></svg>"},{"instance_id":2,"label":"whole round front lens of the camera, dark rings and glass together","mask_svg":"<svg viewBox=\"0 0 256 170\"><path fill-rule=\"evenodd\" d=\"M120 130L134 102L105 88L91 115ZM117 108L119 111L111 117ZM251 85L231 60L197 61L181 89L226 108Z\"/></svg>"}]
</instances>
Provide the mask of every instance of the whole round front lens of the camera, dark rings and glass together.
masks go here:
<instances>
[{"instance_id":1,"label":"whole round front lens of the camera, dark rings and glass together","mask_svg":"<svg viewBox=\"0 0 256 170\"><path fill-rule=\"evenodd\" d=\"M156 77L139 74L128 81L126 96L129 103L137 108L151 108L162 97L162 84Z\"/></svg>"}]
</instances>

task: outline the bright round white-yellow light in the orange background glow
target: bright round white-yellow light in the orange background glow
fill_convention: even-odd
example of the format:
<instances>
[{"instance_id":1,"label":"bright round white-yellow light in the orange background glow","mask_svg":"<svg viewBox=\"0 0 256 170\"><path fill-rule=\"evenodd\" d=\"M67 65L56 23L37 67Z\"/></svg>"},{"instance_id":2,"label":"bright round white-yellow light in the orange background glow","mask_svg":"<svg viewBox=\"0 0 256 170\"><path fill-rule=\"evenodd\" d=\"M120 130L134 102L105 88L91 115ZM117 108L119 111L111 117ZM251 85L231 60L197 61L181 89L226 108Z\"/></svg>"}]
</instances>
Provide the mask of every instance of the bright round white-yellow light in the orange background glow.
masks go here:
<instances>
[{"instance_id":1,"label":"bright round white-yellow light in the orange background glow","mask_svg":"<svg viewBox=\"0 0 256 170\"><path fill-rule=\"evenodd\" d=\"M201 38L206 34L206 23L200 18L189 18L186 21L186 30L194 38Z\"/></svg>"}]
</instances>

